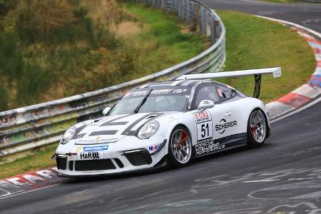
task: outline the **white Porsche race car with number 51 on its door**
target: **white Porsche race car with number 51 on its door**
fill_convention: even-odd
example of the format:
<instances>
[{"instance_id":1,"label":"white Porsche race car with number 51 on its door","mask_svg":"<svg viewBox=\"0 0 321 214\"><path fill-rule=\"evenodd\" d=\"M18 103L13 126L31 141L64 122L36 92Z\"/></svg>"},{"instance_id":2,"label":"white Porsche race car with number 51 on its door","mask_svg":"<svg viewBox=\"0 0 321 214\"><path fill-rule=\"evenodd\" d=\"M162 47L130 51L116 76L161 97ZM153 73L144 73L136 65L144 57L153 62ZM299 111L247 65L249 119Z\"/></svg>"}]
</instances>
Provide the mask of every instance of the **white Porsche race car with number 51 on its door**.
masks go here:
<instances>
[{"instance_id":1,"label":"white Porsche race car with number 51 on its door","mask_svg":"<svg viewBox=\"0 0 321 214\"><path fill-rule=\"evenodd\" d=\"M68 128L54 158L58 175L76 177L145 170L230 148L261 146L270 135L258 99L261 74L280 68L202 73L128 91L103 117ZM255 98L208 78L255 76Z\"/></svg>"}]
</instances>

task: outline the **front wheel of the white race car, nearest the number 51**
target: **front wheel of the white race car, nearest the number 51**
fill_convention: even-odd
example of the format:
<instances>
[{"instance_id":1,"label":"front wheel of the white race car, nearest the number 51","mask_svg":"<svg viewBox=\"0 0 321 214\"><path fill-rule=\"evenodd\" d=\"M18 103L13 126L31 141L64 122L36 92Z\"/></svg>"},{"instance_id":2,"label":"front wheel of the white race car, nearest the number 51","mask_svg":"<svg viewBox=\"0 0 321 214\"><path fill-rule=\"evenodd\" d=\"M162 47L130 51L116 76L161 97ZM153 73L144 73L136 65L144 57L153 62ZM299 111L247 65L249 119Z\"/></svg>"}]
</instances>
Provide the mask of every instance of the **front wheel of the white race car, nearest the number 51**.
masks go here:
<instances>
[{"instance_id":1,"label":"front wheel of the white race car, nearest the number 51","mask_svg":"<svg viewBox=\"0 0 321 214\"><path fill-rule=\"evenodd\" d=\"M187 165L192 157L193 146L188 130L184 126L176 126L170 134L168 156L173 167Z\"/></svg>"}]
</instances>

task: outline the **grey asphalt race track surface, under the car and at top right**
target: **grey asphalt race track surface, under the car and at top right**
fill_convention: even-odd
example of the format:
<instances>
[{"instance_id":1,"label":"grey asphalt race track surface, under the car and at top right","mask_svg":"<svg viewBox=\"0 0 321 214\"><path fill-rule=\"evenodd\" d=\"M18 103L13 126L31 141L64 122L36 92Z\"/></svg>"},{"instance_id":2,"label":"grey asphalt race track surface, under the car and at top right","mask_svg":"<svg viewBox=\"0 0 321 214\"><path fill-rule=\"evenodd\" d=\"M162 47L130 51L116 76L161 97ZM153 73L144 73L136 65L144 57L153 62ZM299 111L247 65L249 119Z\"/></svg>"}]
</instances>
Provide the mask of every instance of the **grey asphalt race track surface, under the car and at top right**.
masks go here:
<instances>
[{"instance_id":1,"label":"grey asphalt race track surface, under the car and at top right","mask_svg":"<svg viewBox=\"0 0 321 214\"><path fill-rule=\"evenodd\" d=\"M228 8L228 0L208 2L220 9L236 9L240 4L233 1L235 4ZM266 8L266 4L253 5L256 11ZM238 10L258 14L249 7ZM320 23L303 22L316 16L321 19L321 7L319 14L300 13L305 6L273 7L280 13L271 17L321 31ZM280 16L283 8L284 17ZM0 213L169 212L321 213L321 103L272 123L272 136L262 148L200 158L180 169L66 179L49 188L0 200Z\"/></svg>"}]
</instances>

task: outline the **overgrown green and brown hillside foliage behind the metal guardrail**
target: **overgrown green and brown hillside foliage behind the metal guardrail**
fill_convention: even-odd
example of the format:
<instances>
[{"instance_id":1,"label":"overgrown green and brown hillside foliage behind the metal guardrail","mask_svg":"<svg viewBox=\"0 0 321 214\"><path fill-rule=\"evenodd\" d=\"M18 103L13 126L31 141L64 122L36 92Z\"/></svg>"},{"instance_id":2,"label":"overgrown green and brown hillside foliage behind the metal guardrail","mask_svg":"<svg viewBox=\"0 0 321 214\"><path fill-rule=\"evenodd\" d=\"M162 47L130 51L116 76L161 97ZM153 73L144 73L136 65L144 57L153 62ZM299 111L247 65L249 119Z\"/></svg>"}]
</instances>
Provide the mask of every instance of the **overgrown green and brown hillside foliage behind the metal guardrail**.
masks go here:
<instances>
[{"instance_id":1,"label":"overgrown green and brown hillside foliage behind the metal guardrail","mask_svg":"<svg viewBox=\"0 0 321 214\"><path fill-rule=\"evenodd\" d=\"M182 33L183 22L175 14L143 4L17 2L0 20L0 81L6 82L1 110L130 81L192 58L207 46L199 34ZM129 29L119 30L126 22Z\"/></svg>"}]
</instances>

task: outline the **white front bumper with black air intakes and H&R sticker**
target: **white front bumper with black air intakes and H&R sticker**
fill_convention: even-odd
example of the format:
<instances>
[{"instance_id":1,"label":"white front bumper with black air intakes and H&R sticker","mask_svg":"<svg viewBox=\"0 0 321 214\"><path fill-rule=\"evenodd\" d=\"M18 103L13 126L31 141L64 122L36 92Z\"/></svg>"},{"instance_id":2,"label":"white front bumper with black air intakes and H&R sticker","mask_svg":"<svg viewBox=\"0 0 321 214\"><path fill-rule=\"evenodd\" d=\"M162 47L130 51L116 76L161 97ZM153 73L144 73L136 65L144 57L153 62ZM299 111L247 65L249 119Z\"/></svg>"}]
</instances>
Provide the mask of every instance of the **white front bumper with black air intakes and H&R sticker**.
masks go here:
<instances>
[{"instance_id":1,"label":"white front bumper with black air intakes and H&R sticker","mask_svg":"<svg viewBox=\"0 0 321 214\"><path fill-rule=\"evenodd\" d=\"M129 144L128 138L126 141L126 143ZM96 156L90 160L81 160L79 158L79 152L74 152L75 149L67 153L66 150L57 149L55 157L58 175L63 177L107 175L144 170L160 165L161 160L163 160L163 157L167 153L167 151L163 149L166 145L166 140L156 144L158 148L154 150L151 149L151 143L144 144L140 142L140 144L141 146L138 148L133 148L132 146L119 147L115 144L109 145L108 150L99 151L99 158ZM99 146L102 146L102 144L93 144L90 147L98 148ZM83 151L80 153L83 153Z\"/></svg>"}]
</instances>

